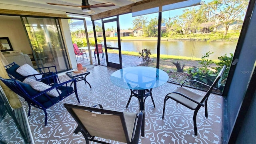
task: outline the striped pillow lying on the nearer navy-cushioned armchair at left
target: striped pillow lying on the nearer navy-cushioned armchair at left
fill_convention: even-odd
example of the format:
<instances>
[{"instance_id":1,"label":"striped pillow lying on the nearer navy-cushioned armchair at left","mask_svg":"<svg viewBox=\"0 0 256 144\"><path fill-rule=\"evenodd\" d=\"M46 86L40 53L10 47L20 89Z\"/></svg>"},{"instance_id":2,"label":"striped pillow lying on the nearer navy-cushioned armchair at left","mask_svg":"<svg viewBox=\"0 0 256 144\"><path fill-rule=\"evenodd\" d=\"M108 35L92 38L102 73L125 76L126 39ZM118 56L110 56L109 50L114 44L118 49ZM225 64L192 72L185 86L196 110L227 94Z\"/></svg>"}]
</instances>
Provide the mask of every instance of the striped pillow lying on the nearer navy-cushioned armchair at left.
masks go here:
<instances>
[{"instance_id":1,"label":"striped pillow lying on the nearer navy-cushioned armchair at left","mask_svg":"<svg viewBox=\"0 0 256 144\"><path fill-rule=\"evenodd\" d=\"M35 89L39 92L42 92L44 90L47 90L48 88L51 88L51 86L49 86L47 84L44 84L43 82L38 82L38 81L33 80L31 78L26 78L23 81L23 83L30 85L33 89ZM46 94L48 94L49 96L58 97L58 96L60 96L61 91L60 90L57 91L57 90L58 89L56 89L56 88L52 89L52 90L46 92ZM60 94L58 92L60 92Z\"/></svg>"}]
</instances>

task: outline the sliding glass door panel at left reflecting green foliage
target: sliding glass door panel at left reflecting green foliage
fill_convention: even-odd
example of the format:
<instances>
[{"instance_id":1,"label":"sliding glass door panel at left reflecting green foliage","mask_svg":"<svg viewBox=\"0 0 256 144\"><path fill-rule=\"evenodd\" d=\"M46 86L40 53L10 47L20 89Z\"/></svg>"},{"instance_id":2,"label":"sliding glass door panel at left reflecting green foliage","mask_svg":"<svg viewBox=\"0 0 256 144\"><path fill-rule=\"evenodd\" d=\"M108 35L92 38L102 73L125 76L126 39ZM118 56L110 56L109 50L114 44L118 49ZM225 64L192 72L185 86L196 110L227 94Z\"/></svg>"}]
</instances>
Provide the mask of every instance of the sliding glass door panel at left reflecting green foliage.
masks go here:
<instances>
[{"instance_id":1,"label":"sliding glass door panel at left reflecting green foliage","mask_svg":"<svg viewBox=\"0 0 256 144\"><path fill-rule=\"evenodd\" d=\"M58 20L30 17L22 17L22 20L32 45L34 65L56 66L58 72L70 69Z\"/></svg>"}]
</instances>

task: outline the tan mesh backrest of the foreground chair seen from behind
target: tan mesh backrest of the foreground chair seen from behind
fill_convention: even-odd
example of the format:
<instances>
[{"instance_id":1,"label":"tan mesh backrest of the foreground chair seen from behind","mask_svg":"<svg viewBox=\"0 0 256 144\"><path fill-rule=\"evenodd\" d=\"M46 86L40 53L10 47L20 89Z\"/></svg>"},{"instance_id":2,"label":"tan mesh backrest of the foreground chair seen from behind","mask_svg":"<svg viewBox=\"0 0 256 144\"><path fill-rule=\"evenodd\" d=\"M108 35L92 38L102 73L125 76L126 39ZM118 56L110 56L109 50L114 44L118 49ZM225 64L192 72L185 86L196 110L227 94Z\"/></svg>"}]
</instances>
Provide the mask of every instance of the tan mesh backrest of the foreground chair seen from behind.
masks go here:
<instances>
[{"instance_id":1,"label":"tan mesh backrest of the foreground chair seen from behind","mask_svg":"<svg viewBox=\"0 0 256 144\"><path fill-rule=\"evenodd\" d=\"M64 106L82 130L90 136L130 143L132 134L128 134L123 112L72 104ZM135 120L132 124L135 124Z\"/></svg>"}]
</instances>

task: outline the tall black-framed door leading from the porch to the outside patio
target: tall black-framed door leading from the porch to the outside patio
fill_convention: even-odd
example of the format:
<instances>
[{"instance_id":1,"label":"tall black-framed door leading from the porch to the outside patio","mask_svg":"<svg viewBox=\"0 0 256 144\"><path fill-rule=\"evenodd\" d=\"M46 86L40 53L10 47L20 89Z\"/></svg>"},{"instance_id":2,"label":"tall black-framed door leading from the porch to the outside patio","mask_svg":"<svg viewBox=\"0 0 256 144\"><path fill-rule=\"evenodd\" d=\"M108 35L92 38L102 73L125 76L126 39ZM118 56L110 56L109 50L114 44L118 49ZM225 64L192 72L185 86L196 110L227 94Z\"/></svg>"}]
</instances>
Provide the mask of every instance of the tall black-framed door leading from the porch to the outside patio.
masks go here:
<instances>
[{"instance_id":1,"label":"tall black-framed door leading from the porch to the outside patio","mask_svg":"<svg viewBox=\"0 0 256 144\"><path fill-rule=\"evenodd\" d=\"M104 36L104 45L106 50L106 62L107 66L112 68L122 68L122 56L121 56L121 42L120 42L120 29L118 24L118 17L103 20L102 29ZM117 43L109 43L106 37L110 37L111 40L117 41Z\"/></svg>"}]
</instances>

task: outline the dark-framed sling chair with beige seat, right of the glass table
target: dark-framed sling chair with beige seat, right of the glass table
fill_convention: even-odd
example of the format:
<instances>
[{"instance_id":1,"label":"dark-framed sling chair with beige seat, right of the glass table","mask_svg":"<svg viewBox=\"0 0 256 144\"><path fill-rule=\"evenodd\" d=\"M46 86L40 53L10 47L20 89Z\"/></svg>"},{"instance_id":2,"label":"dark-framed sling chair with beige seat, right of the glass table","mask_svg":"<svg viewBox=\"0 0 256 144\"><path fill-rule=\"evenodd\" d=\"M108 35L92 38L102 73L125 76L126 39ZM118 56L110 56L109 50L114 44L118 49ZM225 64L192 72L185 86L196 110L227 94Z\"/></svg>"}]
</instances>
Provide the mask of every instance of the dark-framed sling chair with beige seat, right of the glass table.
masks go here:
<instances>
[{"instance_id":1,"label":"dark-framed sling chair with beige seat, right of the glass table","mask_svg":"<svg viewBox=\"0 0 256 144\"><path fill-rule=\"evenodd\" d=\"M204 84L202 82L198 82L196 80L187 80L187 81L184 82L184 83L186 83L186 82L196 82L198 84L202 84L203 86L209 87L209 89L207 90L207 92L204 96L201 96L200 94L196 94L196 93L182 87L184 83L180 87L178 87L176 90L174 90L174 92L171 92L171 93L167 94L164 98L164 108L163 108L162 118L164 119L164 111L165 111L166 101L170 98L172 100L175 100L177 103L180 103L180 104L186 106L187 108L189 108L191 110L194 110L194 116L193 116L194 133L197 136L197 127L196 127L197 112L201 108L201 106L204 106L205 117L208 117L208 112L207 112L208 97L210 96L212 90L214 89L214 86L216 86L216 84L220 80L225 68L226 68L226 66L223 66L222 70L220 70L218 76L216 77L216 79L214 80L214 82L212 83L211 86L209 86L207 84Z\"/></svg>"}]
</instances>

